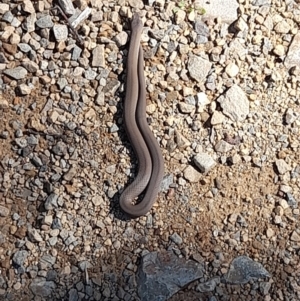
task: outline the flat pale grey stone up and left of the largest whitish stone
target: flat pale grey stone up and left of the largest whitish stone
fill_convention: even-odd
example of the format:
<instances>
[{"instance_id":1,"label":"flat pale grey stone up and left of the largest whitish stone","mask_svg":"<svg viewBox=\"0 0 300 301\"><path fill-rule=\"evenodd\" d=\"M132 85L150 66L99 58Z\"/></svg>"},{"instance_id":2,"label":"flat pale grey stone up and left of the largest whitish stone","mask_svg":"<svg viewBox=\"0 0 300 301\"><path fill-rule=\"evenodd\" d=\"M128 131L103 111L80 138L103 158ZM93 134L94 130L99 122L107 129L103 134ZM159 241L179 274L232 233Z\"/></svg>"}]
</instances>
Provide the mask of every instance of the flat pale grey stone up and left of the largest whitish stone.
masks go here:
<instances>
[{"instance_id":1,"label":"flat pale grey stone up and left of the largest whitish stone","mask_svg":"<svg viewBox=\"0 0 300 301\"><path fill-rule=\"evenodd\" d=\"M197 82L204 82L212 64L199 56L191 55L188 61L190 76Z\"/></svg>"}]
</instances>

